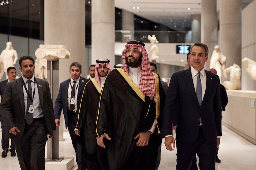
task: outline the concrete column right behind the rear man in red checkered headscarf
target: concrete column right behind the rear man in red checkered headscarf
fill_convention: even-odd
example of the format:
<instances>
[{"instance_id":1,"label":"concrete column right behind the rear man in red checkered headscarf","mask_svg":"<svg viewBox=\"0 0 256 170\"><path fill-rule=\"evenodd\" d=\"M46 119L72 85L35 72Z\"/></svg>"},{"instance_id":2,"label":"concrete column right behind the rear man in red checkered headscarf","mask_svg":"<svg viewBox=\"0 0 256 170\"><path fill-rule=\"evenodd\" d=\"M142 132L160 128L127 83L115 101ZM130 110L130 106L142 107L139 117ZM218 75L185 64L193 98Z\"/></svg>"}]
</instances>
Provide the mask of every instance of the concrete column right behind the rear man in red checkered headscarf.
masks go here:
<instances>
[{"instance_id":1,"label":"concrete column right behind the rear man in red checkered headscarf","mask_svg":"<svg viewBox=\"0 0 256 170\"><path fill-rule=\"evenodd\" d=\"M92 62L99 58L115 65L115 1L92 1Z\"/></svg>"}]
</instances>

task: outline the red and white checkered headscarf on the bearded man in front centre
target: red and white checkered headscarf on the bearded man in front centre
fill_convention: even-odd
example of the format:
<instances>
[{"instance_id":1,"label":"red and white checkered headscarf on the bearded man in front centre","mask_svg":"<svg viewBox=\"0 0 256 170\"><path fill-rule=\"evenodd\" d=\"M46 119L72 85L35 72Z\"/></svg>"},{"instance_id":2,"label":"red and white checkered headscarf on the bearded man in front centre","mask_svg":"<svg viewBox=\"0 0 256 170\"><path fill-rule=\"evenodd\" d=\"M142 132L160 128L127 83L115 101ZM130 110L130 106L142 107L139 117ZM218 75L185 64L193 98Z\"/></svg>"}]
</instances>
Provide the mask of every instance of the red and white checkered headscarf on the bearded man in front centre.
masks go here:
<instances>
[{"instance_id":1,"label":"red and white checkered headscarf on the bearded man in front centre","mask_svg":"<svg viewBox=\"0 0 256 170\"><path fill-rule=\"evenodd\" d=\"M136 40L134 40L136 42ZM137 41L140 42L140 41ZM146 48L140 44L126 44L124 51L122 52L122 57L124 60L124 66L122 69L129 75L129 68L126 63L126 51L128 46L138 46L138 50L142 53L141 59L141 76L140 76L140 84L139 89L143 94L150 97L151 100L154 100L156 95L156 85L154 80L154 75L152 74L149 66L148 53Z\"/></svg>"}]
</instances>

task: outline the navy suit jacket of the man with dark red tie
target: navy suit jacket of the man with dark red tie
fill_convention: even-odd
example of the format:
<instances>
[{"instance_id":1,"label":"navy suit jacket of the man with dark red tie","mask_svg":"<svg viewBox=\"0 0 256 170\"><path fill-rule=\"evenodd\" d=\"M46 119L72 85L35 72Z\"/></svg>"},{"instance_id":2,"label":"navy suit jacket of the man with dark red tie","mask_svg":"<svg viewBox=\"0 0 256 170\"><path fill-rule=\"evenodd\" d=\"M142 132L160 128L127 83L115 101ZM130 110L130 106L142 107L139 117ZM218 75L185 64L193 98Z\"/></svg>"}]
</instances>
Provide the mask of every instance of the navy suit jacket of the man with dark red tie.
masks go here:
<instances>
[{"instance_id":1,"label":"navy suit jacket of the man with dark red tie","mask_svg":"<svg viewBox=\"0 0 256 170\"><path fill-rule=\"evenodd\" d=\"M80 76L77 99L79 99L79 96L81 95L81 92L84 89L84 85L86 84L87 81L88 79ZM60 119L61 110L63 109L66 128L68 127L67 111L68 111L68 86L69 85L70 85L70 78L60 83L60 90L55 100L55 107L54 107L55 119ZM76 101L76 103L79 103L78 100Z\"/></svg>"}]
</instances>

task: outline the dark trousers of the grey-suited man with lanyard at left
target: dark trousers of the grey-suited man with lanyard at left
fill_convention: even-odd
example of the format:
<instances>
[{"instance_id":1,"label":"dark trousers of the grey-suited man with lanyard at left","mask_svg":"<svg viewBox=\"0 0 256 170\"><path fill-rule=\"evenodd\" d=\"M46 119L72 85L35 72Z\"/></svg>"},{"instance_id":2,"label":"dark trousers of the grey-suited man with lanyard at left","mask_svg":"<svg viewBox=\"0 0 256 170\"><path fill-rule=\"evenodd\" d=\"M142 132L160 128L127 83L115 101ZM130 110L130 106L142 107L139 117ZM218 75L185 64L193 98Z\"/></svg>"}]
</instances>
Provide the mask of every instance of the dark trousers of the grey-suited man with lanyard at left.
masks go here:
<instances>
[{"instance_id":1,"label":"dark trousers of the grey-suited man with lanyard at left","mask_svg":"<svg viewBox=\"0 0 256 170\"><path fill-rule=\"evenodd\" d=\"M47 141L45 119L34 120L25 129L20 139L13 140L21 170L45 169L45 144Z\"/></svg>"}]
</instances>

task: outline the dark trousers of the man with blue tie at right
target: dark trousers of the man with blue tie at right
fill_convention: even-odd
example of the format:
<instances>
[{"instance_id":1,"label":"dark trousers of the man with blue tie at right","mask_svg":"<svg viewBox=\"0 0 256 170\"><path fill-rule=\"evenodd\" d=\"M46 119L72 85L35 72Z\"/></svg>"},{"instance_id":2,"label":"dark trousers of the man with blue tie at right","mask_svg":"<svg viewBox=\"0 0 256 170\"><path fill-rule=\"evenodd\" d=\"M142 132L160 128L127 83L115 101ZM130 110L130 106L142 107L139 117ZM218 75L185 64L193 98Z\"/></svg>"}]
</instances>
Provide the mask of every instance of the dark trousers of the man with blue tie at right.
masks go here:
<instances>
[{"instance_id":1,"label":"dark trousers of the man with blue tie at right","mask_svg":"<svg viewBox=\"0 0 256 170\"><path fill-rule=\"evenodd\" d=\"M177 141L176 146L177 170L189 170L195 154L199 157L200 170L215 169L217 142L207 142L202 127L199 128L196 142L189 143Z\"/></svg>"}]
</instances>

